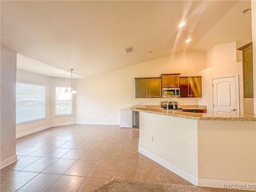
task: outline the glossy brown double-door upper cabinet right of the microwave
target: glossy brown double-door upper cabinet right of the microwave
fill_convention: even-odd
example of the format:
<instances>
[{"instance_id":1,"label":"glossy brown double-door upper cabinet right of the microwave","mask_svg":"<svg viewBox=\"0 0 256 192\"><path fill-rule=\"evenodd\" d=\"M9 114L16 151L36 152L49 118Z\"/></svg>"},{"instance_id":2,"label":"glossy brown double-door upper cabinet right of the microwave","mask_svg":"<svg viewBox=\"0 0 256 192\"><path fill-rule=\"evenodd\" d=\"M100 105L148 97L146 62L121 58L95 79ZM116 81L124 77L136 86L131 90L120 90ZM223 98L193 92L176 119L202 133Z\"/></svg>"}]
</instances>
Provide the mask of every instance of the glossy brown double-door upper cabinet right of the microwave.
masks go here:
<instances>
[{"instance_id":1,"label":"glossy brown double-door upper cabinet right of the microwave","mask_svg":"<svg viewBox=\"0 0 256 192\"><path fill-rule=\"evenodd\" d=\"M180 97L202 97L202 76L180 77Z\"/></svg>"}]
</instances>

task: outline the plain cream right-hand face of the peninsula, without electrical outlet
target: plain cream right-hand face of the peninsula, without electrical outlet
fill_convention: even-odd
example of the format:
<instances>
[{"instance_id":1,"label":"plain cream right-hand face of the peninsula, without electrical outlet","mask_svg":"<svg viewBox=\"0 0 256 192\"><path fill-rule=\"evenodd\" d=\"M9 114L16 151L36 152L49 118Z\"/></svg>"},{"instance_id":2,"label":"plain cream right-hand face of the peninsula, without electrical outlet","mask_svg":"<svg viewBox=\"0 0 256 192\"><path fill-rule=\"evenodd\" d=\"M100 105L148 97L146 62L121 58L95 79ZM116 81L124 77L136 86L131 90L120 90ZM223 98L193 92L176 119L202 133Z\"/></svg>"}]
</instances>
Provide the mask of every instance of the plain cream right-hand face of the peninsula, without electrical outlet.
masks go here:
<instances>
[{"instance_id":1,"label":"plain cream right-hand face of the peninsula, without electrical outlet","mask_svg":"<svg viewBox=\"0 0 256 192\"><path fill-rule=\"evenodd\" d=\"M256 182L255 157L255 121L198 121L198 178Z\"/></svg>"}]
</instances>

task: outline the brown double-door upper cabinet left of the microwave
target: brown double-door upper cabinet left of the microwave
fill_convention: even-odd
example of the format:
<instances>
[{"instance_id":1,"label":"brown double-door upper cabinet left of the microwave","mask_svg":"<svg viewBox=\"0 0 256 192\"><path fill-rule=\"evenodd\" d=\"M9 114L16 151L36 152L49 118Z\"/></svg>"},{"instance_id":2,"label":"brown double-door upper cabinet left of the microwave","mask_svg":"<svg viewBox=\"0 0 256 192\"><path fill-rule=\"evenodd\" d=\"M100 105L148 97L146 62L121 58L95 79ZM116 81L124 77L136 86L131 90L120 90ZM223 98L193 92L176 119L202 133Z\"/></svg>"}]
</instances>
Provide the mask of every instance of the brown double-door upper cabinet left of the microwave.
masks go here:
<instances>
[{"instance_id":1,"label":"brown double-door upper cabinet left of the microwave","mask_svg":"<svg viewBox=\"0 0 256 192\"><path fill-rule=\"evenodd\" d=\"M162 97L162 78L134 78L135 98Z\"/></svg>"}]
</instances>

